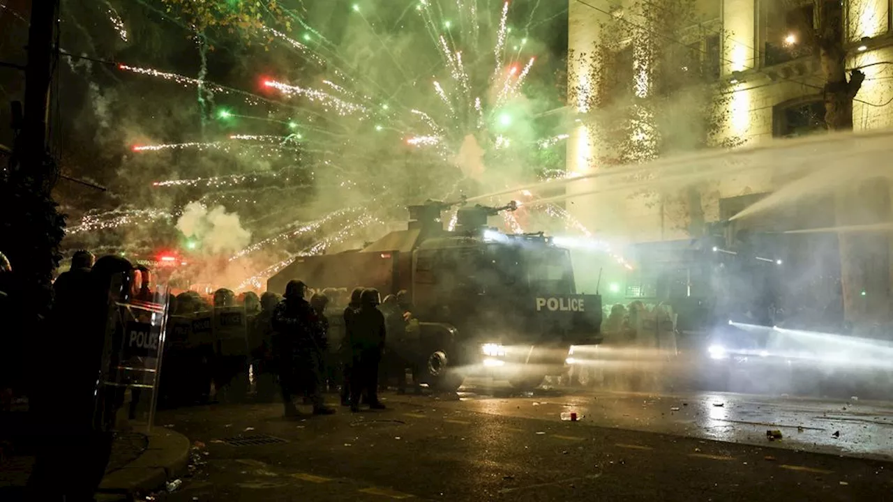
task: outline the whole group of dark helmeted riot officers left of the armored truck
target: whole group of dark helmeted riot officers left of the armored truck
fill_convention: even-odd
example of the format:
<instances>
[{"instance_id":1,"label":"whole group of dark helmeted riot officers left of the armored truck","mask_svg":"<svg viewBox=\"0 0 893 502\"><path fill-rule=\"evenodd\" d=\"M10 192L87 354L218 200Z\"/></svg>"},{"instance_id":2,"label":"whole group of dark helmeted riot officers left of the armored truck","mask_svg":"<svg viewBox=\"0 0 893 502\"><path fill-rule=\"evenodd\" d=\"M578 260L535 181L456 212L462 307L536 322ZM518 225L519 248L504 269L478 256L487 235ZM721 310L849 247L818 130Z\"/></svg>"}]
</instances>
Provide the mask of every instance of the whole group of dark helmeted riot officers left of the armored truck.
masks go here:
<instances>
[{"instance_id":1,"label":"whole group of dark helmeted riot officers left of the armored truck","mask_svg":"<svg viewBox=\"0 0 893 502\"><path fill-rule=\"evenodd\" d=\"M22 299L12 280L13 266L0 254L0 314L4 315L12 314ZM96 491L108 464L118 411L129 411L133 418L140 402L138 389L131 389L128 410L123 387L97 385L103 380L100 375L109 370L103 367L109 364L103 360L108 356L109 335L113 352L124 345L125 326L120 319L110 323L117 317L110 309L115 302L163 301L155 294L152 279L146 266L131 264L121 256L96 259L87 251L78 251L71 259L71 269L54 280L50 314L40 320L34 336L8 338L34 344L21 350L4 349L0 374L4 410L13 396L27 396L31 425L41 431L30 489L46 497L72 499L90 499ZM124 288L111 288L113 285ZM168 301L170 319L203 313L213 319L216 312L233 308L245 314L246 322L244 339L237 336L234 349L228 350L224 346L227 339L213 334L208 337L210 347L189 343L165 347L162 394L165 387L188 389L179 377L184 372L195 373L192 364L202 359L213 362L204 364L210 376L204 383L213 381L216 390L207 389L211 386L203 386L198 379L199 387L205 388L198 392L229 393L238 399L247 394L250 371L256 396L279 394L287 416L299 414L295 399L300 398L313 406L313 414L332 414L334 410L322 398L327 389L338 389L341 405L354 412L360 406L381 409L380 377L396 378L397 388L405 390L405 371L411 369L415 374L411 357L385 349L388 338L402 343L418 330L405 291L388 295L382 302L376 289L356 288L348 295L346 289L314 291L302 281L292 280L282 297L273 292L261 297L246 292L237 297L228 289L219 289L210 305L194 291L171 296ZM338 331L334 339L330 336L332 325ZM176 338L171 330L168 338ZM22 362L21 354L32 354L34 360ZM19 359L19 364L13 364L13 358ZM116 364L114 360L112 364ZM63 420L60 413L64 413Z\"/></svg>"}]
</instances>

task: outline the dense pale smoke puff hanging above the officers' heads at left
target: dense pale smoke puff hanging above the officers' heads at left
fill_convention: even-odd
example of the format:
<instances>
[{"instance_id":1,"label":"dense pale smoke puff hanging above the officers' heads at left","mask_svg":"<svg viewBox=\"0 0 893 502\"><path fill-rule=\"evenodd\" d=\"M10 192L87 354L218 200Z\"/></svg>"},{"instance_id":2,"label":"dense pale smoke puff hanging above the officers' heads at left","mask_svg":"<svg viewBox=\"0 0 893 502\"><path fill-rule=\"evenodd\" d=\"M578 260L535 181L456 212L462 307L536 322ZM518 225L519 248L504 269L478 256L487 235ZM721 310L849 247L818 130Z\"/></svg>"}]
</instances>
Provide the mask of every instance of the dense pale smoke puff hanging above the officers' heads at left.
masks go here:
<instances>
[{"instance_id":1,"label":"dense pale smoke puff hanging above the officers' heads at left","mask_svg":"<svg viewBox=\"0 0 893 502\"><path fill-rule=\"evenodd\" d=\"M205 253L235 253L251 242L251 232L242 228L237 213L227 213L222 205L208 211L199 202L189 203L177 221L177 230L196 238Z\"/></svg>"}]
</instances>

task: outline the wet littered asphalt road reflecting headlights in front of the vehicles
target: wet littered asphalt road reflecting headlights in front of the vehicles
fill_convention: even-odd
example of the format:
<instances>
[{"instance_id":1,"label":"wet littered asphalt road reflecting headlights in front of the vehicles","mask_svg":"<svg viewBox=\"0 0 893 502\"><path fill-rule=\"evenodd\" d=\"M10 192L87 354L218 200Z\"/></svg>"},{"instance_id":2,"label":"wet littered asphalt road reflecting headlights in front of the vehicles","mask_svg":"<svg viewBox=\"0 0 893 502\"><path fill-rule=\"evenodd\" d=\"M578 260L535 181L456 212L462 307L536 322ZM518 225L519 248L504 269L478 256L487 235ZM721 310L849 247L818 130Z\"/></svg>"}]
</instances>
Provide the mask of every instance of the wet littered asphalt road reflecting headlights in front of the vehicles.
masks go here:
<instances>
[{"instance_id":1,"label":"wet littered asphalt road reflecting headlights in front of the vehicles","mask_svg":"<svg viewBox=\"0 0 893 502\"><path fill-rule=\"evenodd\" d=\"M840 403L780 397L519 396L486 385L384 397L385 411L297 420L272 404L162 412L159 423L204 443L204 464L156 499L893 500L893 464L879 460L891 451L883 404L847 405L839 414L854 420L830 425L810 417ZM560 420L569 409L579 423ZM784 438L769 442L769 428ZM284 442L223 442L261 434Z\"/></svg>"}]
</instances>

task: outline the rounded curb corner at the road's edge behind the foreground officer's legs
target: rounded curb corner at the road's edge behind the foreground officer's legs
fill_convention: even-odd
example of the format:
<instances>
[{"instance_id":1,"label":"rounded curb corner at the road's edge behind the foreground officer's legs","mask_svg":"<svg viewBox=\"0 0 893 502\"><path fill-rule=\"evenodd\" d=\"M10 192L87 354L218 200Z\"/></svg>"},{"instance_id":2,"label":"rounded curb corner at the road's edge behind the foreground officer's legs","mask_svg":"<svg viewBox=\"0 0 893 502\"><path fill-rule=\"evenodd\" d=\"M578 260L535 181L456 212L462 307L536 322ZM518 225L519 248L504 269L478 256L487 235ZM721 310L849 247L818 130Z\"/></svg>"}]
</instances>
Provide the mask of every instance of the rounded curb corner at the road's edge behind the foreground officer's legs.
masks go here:
<instances>
[{"instance_id":1,"label":"rounded curb corner at the road's edge behind the foreground officer's legs","mask_svg":"<svg viewBox=\"0 0 893 502\"><path fill-rule=\"evenodd\" d=\"M99 484L100 493L153 491L186 471L191 446L186 436L159 427L148 439L142 455L103 478Z\"/></svg>"}]
</instances>

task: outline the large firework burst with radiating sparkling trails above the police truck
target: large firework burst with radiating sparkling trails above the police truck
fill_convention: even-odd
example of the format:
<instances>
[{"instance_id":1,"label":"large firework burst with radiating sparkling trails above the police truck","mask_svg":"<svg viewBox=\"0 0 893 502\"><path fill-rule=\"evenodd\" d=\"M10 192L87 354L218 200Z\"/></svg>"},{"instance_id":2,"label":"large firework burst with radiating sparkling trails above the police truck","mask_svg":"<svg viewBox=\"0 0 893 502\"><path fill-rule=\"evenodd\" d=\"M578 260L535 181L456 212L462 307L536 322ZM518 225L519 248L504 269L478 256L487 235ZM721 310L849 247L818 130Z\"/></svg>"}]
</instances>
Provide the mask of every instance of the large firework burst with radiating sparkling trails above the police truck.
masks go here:
<instances>
[{"instance_id":1,"label":"large firework burst with radiating sparkling trails above the police truck","mask_svg":"<svg viewBox=\"0 0 893 502\"><path fill-rule=\"evenodd\" d=\"M539 2L534 6L534 12L538 8ZM291 54L296 54L306 62L313 63L315 67L320 69L321 74L314 75L313 82L299 81L292 77L281 76L274 78L264 77L262 80L262 88L277 91L275 96L281 99L271 99L268 97L256 95L246 90L237 88L229 88L220 84L207 80L207 57L213 53L204 52L206 44L199 43L198 49L202 57L202 68L197 74L198 78L191 78L177 73L154 70L152 68L139 68L126 64L119 65L121 71L130 71L148 77L169 80L181 86L191 86L196 88L199 99L199 107L204 110L204 116L208 115L206 106L212 105L210 99L216 96L219 101L224 96L236 96L245 100L247 105L269 105L268 110L273 110L269 117L282 117L281 113L285 110L295 110L301 115L309 116L318 121L306 121L301 123L293 122L289 117L288 121L278 119L259 119L270 122L280 122L287 125L290 129L287 136L275 134L231 134L227 138L229 141L204 141L189 143L171 143L162 145L146 145L134 146L135 152L159 152L165 150L182 150L195 149L202 151L220 151L228 154L242 155L248 152L256 152L257 148L261 148L261 152L267 152L263 149L263 145L270 148L270 152L280 155L283 160L288 159L290 165L297 169L313 170L314 167L321 165L331 166L331 161L338 162L342 160L343 168L327 170L327 174L337 175L334 179L335 183L341 183L344 188L360 188L368 197L369 205L380 205L377 201L390 200L394 196L388 192L387 184L368 182L364 172L366 169L366 159L362 154L357 155L355 152L363 152L363 140L368 141L370 138L376 145L388 144L396 152L402 152L399 148L412 146L413 151L420 151L419 155L434 155L439 162L452 163L452 159L457 155L462 146L463 139L469 136L480 141L485 148L500 152L499 155L513 155L513 152L521 148L537 148L554 145L560 139L554 140L549 138L543 141L533 141L530 139L520 139L513 137L513 128L508 127L505 123L505 115L501 108L511 105L511 101L522 95L525 78L535 63L534 57L525 56L522 58L522 50L524 41L521 43L513 43L516 51L506 56L506 45L509 44L509 34L511 29L508 27L508 13L510 5L508 2L500 3L498 10L498 28L490 30L490 40L492 45L488 47L480 47L479 41L484 41L487 36L480 29L480 11L477 0L454 0L452 4L442 4L433 0L413 0L408 3L404 13L401 14L400 20L395 23L399 24L405 16L412 16L412 7L415 6L416 14L421 20L421 26L418 30L424 38L424 33L430 37L432 51L430 55L434 60L442 61L442 66L428 75L423 76L420 80L433 82L433 88L423 86L412 91L413 94L407 93L401 89L411 88L410 82L413 77L406 74L405 68L401 62L406 60L396 57L391 50L391 46L381 37L376 26L381 26L383 22L371 22L356 6L353 14L357 15L369 30L369 34L378 40L380 46L388 58L393 62L391 73L403 75L405 82L398 83L396 86L385 83L384 80L379 81L368 72L356 69L355 63L348 63L355 58L345 57L339 54L338 45L332 43L330 39L323 36L321 30L315 29L309 22L305 21L304 16L300 13L288 11L289 17L293 21L297 21L300 25L300 34L292 35L288 29L282 29L264 26L260 29L260 35L264 40L274 38L275 46L285 48ZM447 11L451 11L447 13ZM534 12L530 13L532 20ZM494 11L494 13L497 13ZM377 16L377 13L371 14ZM452 17L452 21L449 16ZM484 20L487 22L487 20ZM525 29L525 34L530 28ZM200 37L200 34L199 34ZM484 50L482 50L484 49ZM490 50L486 50L490 49ZM281 49L280 49L281 50ZM490 60L487 54L494 54L494 60ZM516 54L517 53L517 54ZM483 54L483 56L481 55ZM505 67L505 60L509 59L509 68ZM526 63L521 63L526 61ZM483 63L483 68L481 64ZM386 66L389 63L385 61ZM491 64L495 63L491 67ZM321 84L319 83L321 82ZM308 85L309 84L309 85ZM321 86L321 88L316 88ZM406 87L404 87L406 86ZM490 89L498 90L498 98L490 94ZM263 94L263 93L262 93ZM269 95L267 95L269 96ZM491 97L492 96L492 97ZM289 101L288 98L297 98ZM206 101L206 102L205 102ZM441 105L442 104L442 105ZM230 113L229 116L253 118L238 113ZM288 116L288 115L286 115ZM492 119L497 118L497 123L488 123ZM511 117L508 122L511 121ZM310 123L315 125L311 126ZM356 124L365 122L363 134L361 137L357 132ZM337 134L336 131L344 131L345 134ZM370 137L369 134L377 137ZM325 137L325 139L322 139ZM211 138L213 139L213 138ZM284 146L298 146L300 140L301 148L289 150ZM240 143L239 145L237 145ZM307 147L316 145L318 147ZM254 149L252 149L254 148ZM243 151L244 149L244 151ZM288 152L293 151L295 155L288 157ZM427 153L425 153L427 152ZM298 154L305 154L306 158L301 159ZM364 153L364 152L363 152ZM272 154L270 154L272 155ZM314 156L311 156L314 155ZM415 154L413 154L415 155ZM354 160L352 156L356 156ZM386 158L403 158L403 155L382 155ZM431 158L431 157L426 157ZM506 157L508 158L508 157ZM350 160L348 160L350 159ZM401 161L405 162L405 161ZM358 174L359 173L359 174ZM261 177L276 178L281 176L281 171L267 172L249 172L237 173L225 176L214 176L208 178L194 178L188 180L161 180L154 183L155 187L202 187L212 190L232 190L246 183L256 181ZM455 180L448 181L449 183ZM327 180L326 182L333 182ZM458 184L458 181L455 181ZM295 187L300 188L300 187ZM372 189L374 188L374 189ZM425 197L425 194L433 193L438 187L419 187L419 196ZM230 200L234 202L255 201L256 197L250 197L249 194L243 192L232 193ZM299 204L295 201L293 204ZM385 209L382 208L382 211ZM288 213L288 206L285 209ZM346 216L346 214L341 214ZM305 236L306 232L321 231L322 220L326 218L334 218L333 215L326 215L313 223L306 223L291 226L279 234L259 240L250 247L232 256L232 259L247 255L253 251L265 247L275 247L288 241L288 235L293 237ZM455 225L454 214L452 217ZM365 219L355 218L355 222L363 224L371 224L376 221L374 215L367 215ZM307 225L319 223L320 226L315 227L316 230L307 229ZM357 223L360 224L360 223ZM522 232L521 224L513 217L506 217L507 228L514 232ZM309 251L318 251L321 248L330 247L333 242L338 242L338 235L344 234L347 229L353 228L346 225L333 234L333 236L322 238L313 247L308 248ZM304 230L301 230L304 229ZM301 230L301 231L299 231ZM302 233L305 232L305 233ZM294 232L297 232L296 234ZM341 238L343 239L343 238ZM289 262L290 263L290 262ZM271 270L280 270L286 266L286 262L273 264ZM276 268L279 267L279 268ZM250 280L250 279L249 279Z\"/></svg>"}]
</instances>

